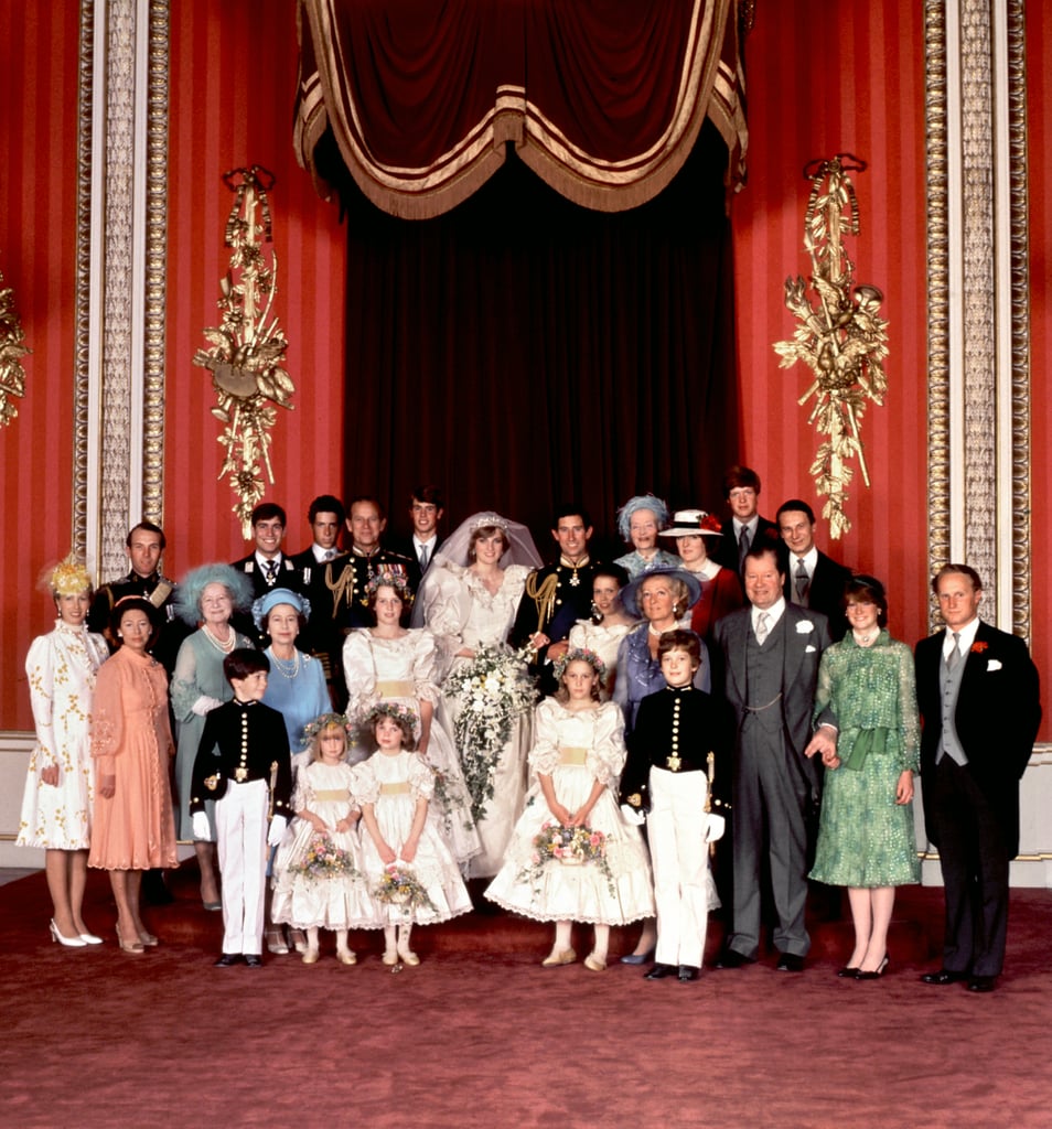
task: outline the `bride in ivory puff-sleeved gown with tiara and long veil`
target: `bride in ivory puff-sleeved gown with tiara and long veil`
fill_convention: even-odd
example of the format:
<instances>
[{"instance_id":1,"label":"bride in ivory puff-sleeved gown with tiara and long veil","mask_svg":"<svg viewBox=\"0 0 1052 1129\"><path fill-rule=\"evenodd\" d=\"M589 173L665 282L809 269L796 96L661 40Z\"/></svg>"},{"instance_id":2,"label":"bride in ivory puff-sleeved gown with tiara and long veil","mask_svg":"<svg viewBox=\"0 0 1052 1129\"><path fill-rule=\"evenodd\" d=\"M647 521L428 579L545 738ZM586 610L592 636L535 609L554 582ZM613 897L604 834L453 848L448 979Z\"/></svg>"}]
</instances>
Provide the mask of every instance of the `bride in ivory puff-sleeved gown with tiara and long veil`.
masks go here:
<instances>
[{"instance_id":1,"label":"bride in ivory puff-sleeved gown with tiara and long veil","mask_svg":"<svg viewBox=\"0 0 1052 1129\"><path fill-rule=\"evenodd\" d=\"M483 511L464 522L428 569L418 599L419 615L438 637L447 674L468 664L483 648L506 647L526 577L541 558L529 531L499 514ZM456 721L458 699L446 695ZM492 877L523 811L529 717L515 721L497 755L493 796L477 820L482 850L468 864L471 877ZM461 756L464 756L461 750ZM480 797L473 797L477 803Z\"/></svg>"}]
</instances>

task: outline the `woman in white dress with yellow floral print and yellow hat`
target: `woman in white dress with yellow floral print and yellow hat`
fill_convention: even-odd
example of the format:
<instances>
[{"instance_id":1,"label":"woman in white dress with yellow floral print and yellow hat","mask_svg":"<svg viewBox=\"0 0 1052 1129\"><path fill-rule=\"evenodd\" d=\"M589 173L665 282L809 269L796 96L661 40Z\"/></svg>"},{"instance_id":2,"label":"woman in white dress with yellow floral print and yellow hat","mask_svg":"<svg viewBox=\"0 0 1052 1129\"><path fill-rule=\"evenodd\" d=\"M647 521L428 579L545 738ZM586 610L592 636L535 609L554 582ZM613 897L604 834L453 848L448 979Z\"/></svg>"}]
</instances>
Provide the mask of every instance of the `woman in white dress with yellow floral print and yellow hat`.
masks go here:
<instances>
[{"instance_id":1,"label":"woman in white dress with yellow floral print and yellow hat","mask_svg":"<svg viewBox=\"0 0 1052 1129\"><path fill-rule=\"evenodd\" d=\"M33 640L26 656L36 744L15 841L44 848L52 939L80 948L99 944L80 910L95 802L91 700L95 675L109 651L106 640L86 627L91 604L87 569L67 558L51 574L49 587L59 619L54 631Z\"/></svg>"}]
</instances>

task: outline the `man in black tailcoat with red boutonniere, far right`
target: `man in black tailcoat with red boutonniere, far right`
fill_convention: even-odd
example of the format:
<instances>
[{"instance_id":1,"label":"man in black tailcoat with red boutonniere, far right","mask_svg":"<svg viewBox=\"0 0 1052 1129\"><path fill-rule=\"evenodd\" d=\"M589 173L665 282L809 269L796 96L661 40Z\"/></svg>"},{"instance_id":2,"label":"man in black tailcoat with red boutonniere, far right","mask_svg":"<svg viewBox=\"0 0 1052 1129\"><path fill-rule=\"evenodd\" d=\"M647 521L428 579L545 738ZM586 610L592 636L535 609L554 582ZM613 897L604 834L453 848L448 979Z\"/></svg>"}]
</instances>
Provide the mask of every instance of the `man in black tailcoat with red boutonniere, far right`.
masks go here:
<instances>
[{"instance_id":1,"label":"man in black tailcoat with red boutonniere, far right","mask_svg":"<svg viewBox=\"0 0 1052 1129\"><path fill-rule=\"evenodd\" d=\"M943 966L928 984L993 991L1005 963L1008 867L1019 849L1019 779L1041 723L1026 644L979 619L982 581L944 564L931 583L946 623L917 645L921 784L946 895Z\"/></svg>"}]
</instances>

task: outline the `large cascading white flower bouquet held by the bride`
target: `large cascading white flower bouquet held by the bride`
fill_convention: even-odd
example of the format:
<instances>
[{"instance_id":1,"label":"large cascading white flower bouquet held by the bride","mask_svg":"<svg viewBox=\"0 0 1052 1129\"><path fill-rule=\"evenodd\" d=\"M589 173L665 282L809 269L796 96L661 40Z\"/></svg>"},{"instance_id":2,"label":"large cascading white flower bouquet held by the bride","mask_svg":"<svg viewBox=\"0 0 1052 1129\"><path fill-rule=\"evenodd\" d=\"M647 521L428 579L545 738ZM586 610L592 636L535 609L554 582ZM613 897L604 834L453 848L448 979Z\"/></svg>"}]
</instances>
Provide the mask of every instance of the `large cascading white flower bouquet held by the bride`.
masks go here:
<instances>
[{"instance_id":1,"label":"large cascading white flower bouquet held by the bride","mask_svg":"<svg viewBox=\"0 0 1052 1129\"><path fill-rule=\"evenodd\" d=\"M511 726L537 698L525 654L484 648L447 680L445 689L459 699L454 726L471 814L477 823L493 798L497 760Z\"/></svg>"}]
</instances>

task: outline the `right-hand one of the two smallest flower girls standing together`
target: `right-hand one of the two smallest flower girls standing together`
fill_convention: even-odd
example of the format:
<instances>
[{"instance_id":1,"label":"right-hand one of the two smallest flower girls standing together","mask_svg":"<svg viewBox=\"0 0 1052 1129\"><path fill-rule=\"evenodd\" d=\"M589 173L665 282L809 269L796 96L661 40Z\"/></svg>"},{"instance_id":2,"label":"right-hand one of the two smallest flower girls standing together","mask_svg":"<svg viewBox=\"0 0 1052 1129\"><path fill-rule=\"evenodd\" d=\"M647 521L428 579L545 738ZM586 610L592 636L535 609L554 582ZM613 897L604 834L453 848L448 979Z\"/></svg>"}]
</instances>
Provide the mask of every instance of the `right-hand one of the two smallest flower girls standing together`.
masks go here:
<instances>
[{"instance_id":1,"label":"right-hand one of the two smallest flower girls standing together","mask_svg":"<svg viewBox=\"0 0 1052 1129\"><path fill-rule=\"evenodd\" d=\"M374 706L362 721L376 752L353 769L361 804L362 858L375 911L384 926L384 963L414 965L413 922L448 921L471 898L438 825L428 819L435 776L417 753L417 715L395 701Z\"/></svg>"}]
</instances>

